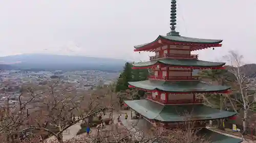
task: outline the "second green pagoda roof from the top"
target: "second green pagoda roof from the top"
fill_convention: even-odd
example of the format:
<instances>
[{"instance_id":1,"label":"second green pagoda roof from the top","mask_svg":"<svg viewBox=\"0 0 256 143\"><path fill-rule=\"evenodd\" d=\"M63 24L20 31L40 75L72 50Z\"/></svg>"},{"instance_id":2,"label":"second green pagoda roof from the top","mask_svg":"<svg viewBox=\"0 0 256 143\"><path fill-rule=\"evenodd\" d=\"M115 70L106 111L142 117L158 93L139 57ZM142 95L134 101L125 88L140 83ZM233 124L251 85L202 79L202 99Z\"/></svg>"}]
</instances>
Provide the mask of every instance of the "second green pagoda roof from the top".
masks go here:
<instances>
[{"instance_id":1,"label":"second green pagoda roof from the top","mask_svg":"<svg viewBox=\"0 0 256 143\"><path fill-rule=\"evenodd\" d=\"M170 65L170 66L184 66L184 67L219 67L224 66L226 63L219 62L207 62L197 59L160 59L142 63L133 64L134 67L148 67L153 66L157 63Z\"/></svg>"}]
</instances>

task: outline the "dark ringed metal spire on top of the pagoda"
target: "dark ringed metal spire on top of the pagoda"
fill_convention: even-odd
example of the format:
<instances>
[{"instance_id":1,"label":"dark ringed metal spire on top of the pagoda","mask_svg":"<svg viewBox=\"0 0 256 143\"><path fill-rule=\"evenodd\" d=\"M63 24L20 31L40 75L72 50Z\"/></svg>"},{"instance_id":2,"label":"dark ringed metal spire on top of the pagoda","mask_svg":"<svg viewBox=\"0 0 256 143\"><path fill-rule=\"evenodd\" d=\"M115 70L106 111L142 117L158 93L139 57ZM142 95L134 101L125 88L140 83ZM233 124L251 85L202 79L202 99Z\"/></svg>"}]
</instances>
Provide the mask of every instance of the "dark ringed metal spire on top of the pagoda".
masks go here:
<instances>
[{"instance_id":1,"label":"dark ringed metal spire on top of the pagoda","mask_svg":"<svg viewBox=\"0 0 256 143\"><path fill-rule=\"evenodd\" d=\"M180 36L179 32L176 32L176 18L177 18L177 13L176 13L176 9L177 9L177 5L176 5L176 0L171 0L171 5L170 5L170 32L166 34L166 36L169 35L173 35L173 36Z\"/></svg>"}]
</instances>

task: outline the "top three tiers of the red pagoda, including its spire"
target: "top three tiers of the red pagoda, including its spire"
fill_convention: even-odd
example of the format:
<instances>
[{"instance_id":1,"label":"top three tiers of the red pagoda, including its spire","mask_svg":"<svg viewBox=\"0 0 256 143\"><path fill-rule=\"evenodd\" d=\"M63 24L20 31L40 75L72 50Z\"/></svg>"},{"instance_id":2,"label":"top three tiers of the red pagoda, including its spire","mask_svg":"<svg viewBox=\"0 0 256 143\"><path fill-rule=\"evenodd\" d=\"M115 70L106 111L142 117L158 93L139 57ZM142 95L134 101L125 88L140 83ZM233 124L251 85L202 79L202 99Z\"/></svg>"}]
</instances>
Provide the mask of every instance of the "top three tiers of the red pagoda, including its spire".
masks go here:
<instances>
[{"instance_id":1,"label":"top three tiers of the red pagoda, including its spire","mask_svg":"<svg viewBox=\"0 0 256 143\"><path fill-rule=\"evenodd\" d=\"M199 93L228 93L230 87L199 81L196 69L224 69L225 63L198 60L191 51L221 47L223 40L180 36L176 31L176 1L172 0L170 32L153 42L134 46L134 51L155 52L150 61L134 63L133 69L150 69L148 80L129 82L131 88L145 90L146 99L162 105L201 104Z\"/></svg>"}]
</instances>

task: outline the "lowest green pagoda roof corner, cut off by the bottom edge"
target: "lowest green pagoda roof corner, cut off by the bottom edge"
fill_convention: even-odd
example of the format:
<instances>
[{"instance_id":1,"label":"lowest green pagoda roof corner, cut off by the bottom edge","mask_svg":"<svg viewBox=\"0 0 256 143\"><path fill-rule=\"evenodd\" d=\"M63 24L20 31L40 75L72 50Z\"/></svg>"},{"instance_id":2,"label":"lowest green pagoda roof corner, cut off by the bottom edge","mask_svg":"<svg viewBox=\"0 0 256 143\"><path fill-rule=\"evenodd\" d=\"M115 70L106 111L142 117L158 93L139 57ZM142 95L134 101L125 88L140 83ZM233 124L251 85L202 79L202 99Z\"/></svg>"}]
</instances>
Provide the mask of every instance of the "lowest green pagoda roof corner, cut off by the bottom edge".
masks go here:
<instances>
[{"instance_id":1,"label":"lowest green pagoda roof corner, cut off by the bottom edge","mask_svg":"<svg viewBox=\"0 0 256 143\"><path fill-rule=\"evenodd\" d=\"M231 136L223 135L215 131L203 128L197 133L211 143L240 143L243 140L240 138L234 138Z\"/></svg>"}]
</instances>

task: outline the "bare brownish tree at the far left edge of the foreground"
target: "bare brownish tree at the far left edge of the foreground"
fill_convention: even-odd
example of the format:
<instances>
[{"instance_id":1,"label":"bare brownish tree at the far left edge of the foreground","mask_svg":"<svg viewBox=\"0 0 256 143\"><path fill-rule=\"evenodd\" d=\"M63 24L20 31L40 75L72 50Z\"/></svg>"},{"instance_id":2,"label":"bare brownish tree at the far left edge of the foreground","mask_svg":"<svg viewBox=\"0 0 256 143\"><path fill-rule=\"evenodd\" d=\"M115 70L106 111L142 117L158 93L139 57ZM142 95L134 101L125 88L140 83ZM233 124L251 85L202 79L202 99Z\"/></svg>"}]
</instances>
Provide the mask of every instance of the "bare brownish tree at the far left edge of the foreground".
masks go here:
<instances>
[{"instance_id":1,"label":"bare brownish tree at the far left edge of the foreground","mask_svg":"<svg viewBox=\"0 0 256 143\"><path fill-rule=\"evenodd\" d=\"M9 97L4 106L0 108L0 134L2 139L14 142L20 135L18 132L29 125L28 106L43 93L35 94L30 89L29 96L25 98L23 94L19 94L16 104L11 104Z\"/></svg>"}]
</instances>

